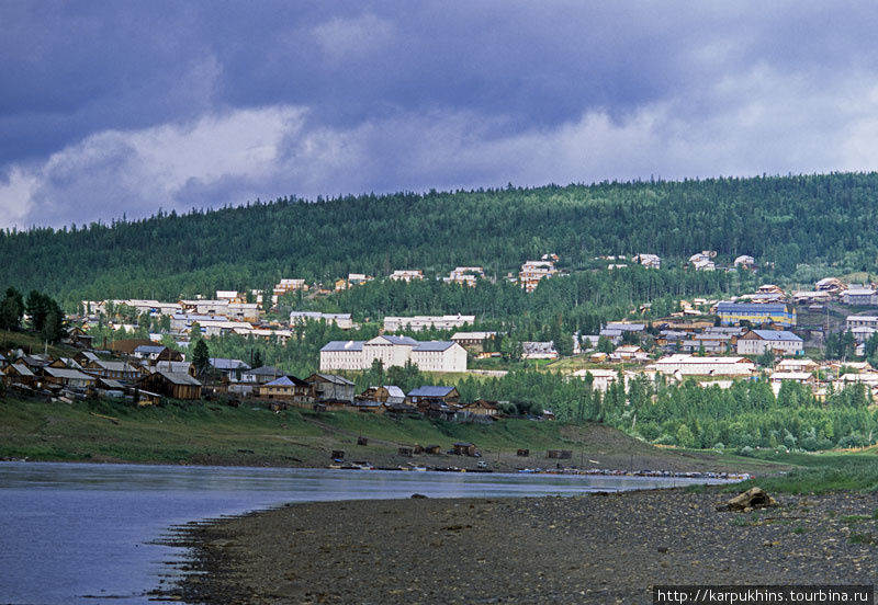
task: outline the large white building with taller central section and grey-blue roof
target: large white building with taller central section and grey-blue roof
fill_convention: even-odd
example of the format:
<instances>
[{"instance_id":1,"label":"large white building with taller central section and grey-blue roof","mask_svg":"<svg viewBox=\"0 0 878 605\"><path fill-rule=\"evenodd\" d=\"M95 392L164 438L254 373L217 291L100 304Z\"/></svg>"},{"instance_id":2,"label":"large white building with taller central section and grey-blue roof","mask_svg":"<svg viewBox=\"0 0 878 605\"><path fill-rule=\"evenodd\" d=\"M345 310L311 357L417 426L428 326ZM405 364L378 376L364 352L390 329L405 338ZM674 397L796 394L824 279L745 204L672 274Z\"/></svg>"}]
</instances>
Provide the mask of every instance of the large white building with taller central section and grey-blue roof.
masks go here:
<instances>
[{"instance_id":1,"label":"large white building with taller central section and grey-blue roof","mask_svg":"<svg viewBox=\"0 0 878 605\"><path fill-rule=\"evenodd\" d=\"M385 368L412 362L425 372L466 372L466 350L455 342L418 342L408 336L369 341L331 341L320 349L320 372L369 369L374 359Z\"/></svg>"}]
</instances>

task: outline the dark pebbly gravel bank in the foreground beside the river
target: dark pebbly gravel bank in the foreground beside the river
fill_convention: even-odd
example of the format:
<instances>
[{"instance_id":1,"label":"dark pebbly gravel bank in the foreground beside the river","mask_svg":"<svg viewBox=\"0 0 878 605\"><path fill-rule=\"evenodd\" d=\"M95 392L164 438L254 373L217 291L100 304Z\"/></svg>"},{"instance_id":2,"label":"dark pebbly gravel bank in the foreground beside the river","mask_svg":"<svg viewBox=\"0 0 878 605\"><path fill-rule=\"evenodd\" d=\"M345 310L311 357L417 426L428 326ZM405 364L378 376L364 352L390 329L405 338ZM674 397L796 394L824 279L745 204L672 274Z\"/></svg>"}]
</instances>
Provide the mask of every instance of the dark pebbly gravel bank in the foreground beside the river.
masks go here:
<instances>
[{"instance_id":1,"label":"dark pebbly gravel bank in the foreground beside the river","mask_svg":"<svg viewBox=\"0 0 878 605\"><path fill-rule=\"evenodd\" d=\"M290 505L187 529L189 603L652 603L654 584L873 584L876 494L730 493ZM206 573L200 573L206 572Z\"/></svg>"}]
</instances>

